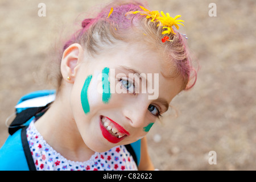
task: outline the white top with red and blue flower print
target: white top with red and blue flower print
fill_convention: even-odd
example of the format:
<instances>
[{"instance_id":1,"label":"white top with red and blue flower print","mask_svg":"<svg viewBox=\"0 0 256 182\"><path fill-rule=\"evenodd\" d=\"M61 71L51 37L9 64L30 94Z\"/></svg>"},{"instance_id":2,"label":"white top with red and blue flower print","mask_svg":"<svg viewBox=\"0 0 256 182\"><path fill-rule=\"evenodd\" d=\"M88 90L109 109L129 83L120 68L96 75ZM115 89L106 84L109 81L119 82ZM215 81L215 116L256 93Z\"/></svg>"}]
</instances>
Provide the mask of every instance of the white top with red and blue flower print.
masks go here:
<instances>
[{"instance_id":1,"label":"white top with red and blue flower print","mask_svg":"<svg viewBox=\"0 0 256 182\"><path fill-rule=\"evenodd\" d=\"M138 170L133 156L125 146L117 146L106 152L96 152L85 162L68 160L49 146L36 130L34 121L27 128L27 140L38 171Z\"/></svg>"}]
</instances>

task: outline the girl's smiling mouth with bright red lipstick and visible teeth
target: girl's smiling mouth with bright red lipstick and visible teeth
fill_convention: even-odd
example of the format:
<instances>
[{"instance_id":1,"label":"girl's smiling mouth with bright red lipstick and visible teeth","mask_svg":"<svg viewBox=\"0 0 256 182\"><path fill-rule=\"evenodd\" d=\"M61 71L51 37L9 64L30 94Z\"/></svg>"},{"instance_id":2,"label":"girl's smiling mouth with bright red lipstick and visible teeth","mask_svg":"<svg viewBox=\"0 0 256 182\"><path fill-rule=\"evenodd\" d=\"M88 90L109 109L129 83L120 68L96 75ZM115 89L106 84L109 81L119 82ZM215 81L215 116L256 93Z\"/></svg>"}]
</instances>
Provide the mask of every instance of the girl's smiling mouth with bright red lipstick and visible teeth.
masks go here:
<instances>
[{"instance_id":1,"label":"girl's smiling mouth with bright red lipstick and visible teeth","mask_svg":"<svg viewBox=\"0 0 256 182\"><path fill-rule=\"evenodd\" d=\"M103 115L101 115L100 119L102 134L104 135L104 138L109 140L109 142L118 143L130 135L128 131L112 119L104 117Z\"/></svg>"}]
</instances>

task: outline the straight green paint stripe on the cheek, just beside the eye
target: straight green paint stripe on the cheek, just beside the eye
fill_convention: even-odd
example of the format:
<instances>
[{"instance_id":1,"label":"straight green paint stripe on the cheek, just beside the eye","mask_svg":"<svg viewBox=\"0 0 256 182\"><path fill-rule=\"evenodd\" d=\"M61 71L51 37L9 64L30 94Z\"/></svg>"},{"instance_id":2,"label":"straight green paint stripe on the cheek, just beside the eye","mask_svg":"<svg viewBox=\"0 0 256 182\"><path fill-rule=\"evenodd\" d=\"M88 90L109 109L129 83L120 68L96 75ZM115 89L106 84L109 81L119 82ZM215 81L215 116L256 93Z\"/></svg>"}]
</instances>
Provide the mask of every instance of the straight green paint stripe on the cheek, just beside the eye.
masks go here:
<instances>
[{"instance_id":1,"label":"straight green paint stripe on the cheek, just beside the eye","mask_svg":"<svg viewBox=\"0 0 256 182\"><path fill-rule=\"evenodd\" d=\"M109 83L109 68L102 69L102 101L108 104L110 99L110 83Z\"/></svg>"}]
</instances>

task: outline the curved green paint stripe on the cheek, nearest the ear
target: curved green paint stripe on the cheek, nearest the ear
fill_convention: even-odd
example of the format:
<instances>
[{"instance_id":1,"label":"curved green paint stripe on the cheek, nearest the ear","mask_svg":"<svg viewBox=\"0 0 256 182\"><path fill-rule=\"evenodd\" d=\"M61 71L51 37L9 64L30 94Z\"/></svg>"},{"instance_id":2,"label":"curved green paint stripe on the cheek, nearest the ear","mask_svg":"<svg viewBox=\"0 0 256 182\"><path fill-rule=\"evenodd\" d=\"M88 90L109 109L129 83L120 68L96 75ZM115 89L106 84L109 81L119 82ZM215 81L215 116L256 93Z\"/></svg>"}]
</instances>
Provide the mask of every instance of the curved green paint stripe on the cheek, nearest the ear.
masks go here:
<instances>
[{"instance_id":1,"label":"curved green paint stripe on the cheek, nearest the ear","mask_svg":"<svg viewBox=\"0 0 256 182\"><path fill-rule=\"evenodd\" d=\"M88 96L87 96L87 91L88 91L88 87L90 84L90 80L92 80L92 75L89 75L85 82L84 82L84 86L82 86L82 91L81 91L81 103L82 103L82 109L84 110L84 113L87 114L90 111L90 106L89 106L89 102L88 102Z\"/></svg>"}]
</instances>

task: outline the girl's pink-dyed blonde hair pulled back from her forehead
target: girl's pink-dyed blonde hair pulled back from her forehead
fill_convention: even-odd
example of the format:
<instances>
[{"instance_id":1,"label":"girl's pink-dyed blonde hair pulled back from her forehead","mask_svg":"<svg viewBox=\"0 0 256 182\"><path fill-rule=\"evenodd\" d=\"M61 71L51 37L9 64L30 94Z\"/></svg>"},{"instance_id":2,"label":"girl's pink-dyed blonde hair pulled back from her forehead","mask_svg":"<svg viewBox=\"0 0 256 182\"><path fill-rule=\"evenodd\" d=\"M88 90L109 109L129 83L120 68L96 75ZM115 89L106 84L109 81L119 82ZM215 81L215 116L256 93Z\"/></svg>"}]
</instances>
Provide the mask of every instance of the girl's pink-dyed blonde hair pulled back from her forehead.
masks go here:
<instances>
[{"instance_id":1,"label":"girl's pink-dyed blonde hair pulled back from her forehead","mask_svg":"<svg viewBox=\"0 0 256 182\"><path fill-rule=\"evenodd\" d=\"M110 3L98 13L96 18L84 19L81 23L82 28L73 34L68 40L63 51L73 43L79 43L93 56L100 53L102 48L107 48L104 44L114 44L117 41L125 42L143 42L155 51L161 52L164 56L162 62L164 70L168 68L166 78L181 76L183 85L181 90L191 89L196 83L196 70L191 63L191 57L188 52L187 43L183 35L175 31L171 35L173 42L162 42L162 26L157 27L158 22L151 22L145 16L136 14L126 17L129 11L141 11L139 2L114 2ZM113 7L113 13L108 17L110 8ZM144 6L146 7L146 6ZM95 35L98 36L95 36ZM146 35L146 36L145 36ZM162 72L163 74L163 72ZM59 86L61 79L59 79Z\"/></svg>"}]
</instances>

